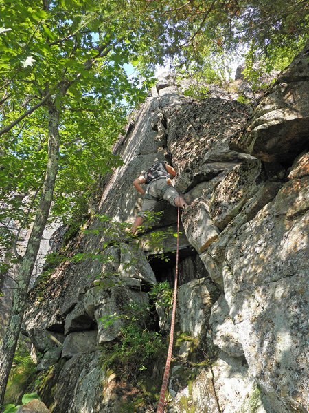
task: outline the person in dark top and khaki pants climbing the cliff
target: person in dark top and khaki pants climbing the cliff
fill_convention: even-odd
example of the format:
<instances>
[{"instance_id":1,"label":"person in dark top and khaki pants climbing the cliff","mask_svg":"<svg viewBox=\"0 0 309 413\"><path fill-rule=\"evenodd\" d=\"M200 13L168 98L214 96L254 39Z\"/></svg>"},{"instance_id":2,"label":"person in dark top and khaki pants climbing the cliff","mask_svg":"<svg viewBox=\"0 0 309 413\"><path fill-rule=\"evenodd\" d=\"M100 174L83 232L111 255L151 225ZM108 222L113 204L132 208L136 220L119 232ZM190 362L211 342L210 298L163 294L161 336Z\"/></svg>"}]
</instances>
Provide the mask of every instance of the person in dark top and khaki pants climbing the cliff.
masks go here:
<instances>
[{"instance_id":1,"label":"person in dark top and khaki pants climbing the cliff","mask_svg":"<svg viewBox=\"0 0 309 413\"><path fill-rule=\"evenodd\" d=\"M144 202L130 230L132 235L135 234L137 228L143 223L147 212L155 209L155 204L157 204L159 199L163 198L163 200L167 200L176 207L179 206L183 209L187 207L187 202L181 198L172 186L168 176L169 173L172 176L176 176L176 171L173 167L163 162L157 162L133 181L135 189L144 195ZM146 191L141 187L141 184L147 184Z\"/></svg>"}]
</instances>

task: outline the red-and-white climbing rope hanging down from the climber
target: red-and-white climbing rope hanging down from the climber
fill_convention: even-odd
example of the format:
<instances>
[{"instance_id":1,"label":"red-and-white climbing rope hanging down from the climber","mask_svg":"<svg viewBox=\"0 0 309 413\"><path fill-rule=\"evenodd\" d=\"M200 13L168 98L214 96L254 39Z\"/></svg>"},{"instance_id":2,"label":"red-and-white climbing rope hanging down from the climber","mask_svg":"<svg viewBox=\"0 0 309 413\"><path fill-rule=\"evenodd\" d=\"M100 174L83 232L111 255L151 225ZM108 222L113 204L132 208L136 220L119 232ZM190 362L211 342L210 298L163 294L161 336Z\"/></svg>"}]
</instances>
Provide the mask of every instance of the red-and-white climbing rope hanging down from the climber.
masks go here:
<instances>
[{"instance_id":1,"label":"red-and-white climbing rope hanging down from the climber","mask_svg":"<svg viewBox=\"0 0 309 413\"><path fill-rule=\"evenodd\" d=\"M160 392L160 400L157 409L157 413L163 413L163 405L165 401L165 392L168 388L168 376L170 374L170 361L172 359L172 348L174 339L174 325L175 325L175 313L176 313L176 295L177 295L177 277L178 277L178 250L179 250L179 206L178 206L178 217L177 217L177 248L176 248L176 270L175 270L175 282L174 282L174 298L173 298L173 310L172 310L172 321L170 324L170 344L168 345L168 357L165 363L165 370L163 374L163 382Z\"/></svg>"}]
</instances>

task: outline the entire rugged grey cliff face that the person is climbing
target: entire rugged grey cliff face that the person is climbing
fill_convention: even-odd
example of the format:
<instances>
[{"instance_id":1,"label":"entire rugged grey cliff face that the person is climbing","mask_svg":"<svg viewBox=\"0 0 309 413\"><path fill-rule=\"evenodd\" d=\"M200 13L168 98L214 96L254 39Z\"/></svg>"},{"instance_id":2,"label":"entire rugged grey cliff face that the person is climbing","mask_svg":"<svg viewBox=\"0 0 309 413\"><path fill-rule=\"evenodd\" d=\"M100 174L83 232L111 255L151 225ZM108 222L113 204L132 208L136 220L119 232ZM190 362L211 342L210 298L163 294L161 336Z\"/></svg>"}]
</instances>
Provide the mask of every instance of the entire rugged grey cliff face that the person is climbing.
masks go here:
<instances>
[{"instance_id":1,"label":"entire rugged grey cliff face that the person is climbing","mask_svg":"<svg viewBox=\"0 0 309 413\"><path fill-rule=\"evenodd\" d=\"M52 413L155 411L146 399L130 410L136 389L104 368L104 357L122 342L129 308L149 306L152 286L174 277L176 209L159 202L163 214L138 245L119 227L141 207L133 180L158 160L176 169L174 184L190 204L181 213L166 411L308 410L307 53L254 110L224 92L187 98L170 76L132 116L114 149L124 165L100 182L97 215L67 251L83 259L60 264L41 295L30 295L23 332L44 354L38 392ZM167 335L166 296L156 304L152 328Z\"/></svg>"}]
</instances>

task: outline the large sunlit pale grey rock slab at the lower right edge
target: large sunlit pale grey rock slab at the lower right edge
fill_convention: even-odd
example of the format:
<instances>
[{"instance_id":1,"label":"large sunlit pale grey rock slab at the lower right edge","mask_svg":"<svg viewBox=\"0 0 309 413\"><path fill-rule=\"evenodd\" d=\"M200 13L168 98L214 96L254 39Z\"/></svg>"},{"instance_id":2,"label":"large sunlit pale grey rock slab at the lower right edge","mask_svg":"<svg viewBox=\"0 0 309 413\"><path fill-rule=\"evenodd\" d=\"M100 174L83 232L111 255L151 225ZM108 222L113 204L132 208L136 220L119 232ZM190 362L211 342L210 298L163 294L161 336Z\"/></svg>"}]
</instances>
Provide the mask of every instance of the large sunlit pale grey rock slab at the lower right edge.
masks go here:
<instances>
[{"instance_id":1,"label":"large sunlit pale grey rock slab at the lower right edge","mask_svg":"<svg viewBox=\"0 0 309 413\"><path fill-rule=\"evenodd\" d=\"M278 413L309 407L308 182L287 182L240 228L223 271L245 357Z\"/></svg>"}]
</instances>

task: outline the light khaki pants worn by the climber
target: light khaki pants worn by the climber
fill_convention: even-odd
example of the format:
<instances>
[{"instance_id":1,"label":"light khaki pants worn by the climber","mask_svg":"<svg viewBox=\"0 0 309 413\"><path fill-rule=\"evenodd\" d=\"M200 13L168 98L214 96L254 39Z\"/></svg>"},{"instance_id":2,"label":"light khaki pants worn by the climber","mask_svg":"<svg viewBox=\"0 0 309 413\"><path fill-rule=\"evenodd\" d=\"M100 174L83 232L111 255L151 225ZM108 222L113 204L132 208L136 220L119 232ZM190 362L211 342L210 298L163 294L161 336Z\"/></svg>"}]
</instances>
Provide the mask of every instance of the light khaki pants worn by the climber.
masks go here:
<instances>
[{"instance_id":1,"label":"light khaki pants worn by the climber","mask_svg":"<svg viewBox=\"0 0 309 413\"><path fill-rule=\"evenodd\" d=\"M153 196L154 200L150 200L144 198L143 206L141 207L141 211L139 212L139 216L146 217L147 213L145 212L152 212L155 209L155 205L157 201L162 199L170 202L175 207L175 198L179 196L179 193L174 189L174 187L170 184L168 185L168 189L166 189L162 195L162 189L166 187L168 184L167 179L161 178L156 179L148 184L146 189L146 194Z\"/></svg>"}]
</instances>

